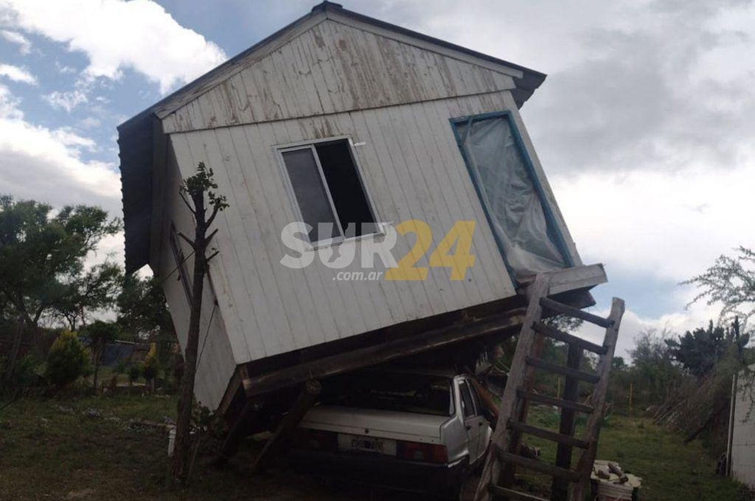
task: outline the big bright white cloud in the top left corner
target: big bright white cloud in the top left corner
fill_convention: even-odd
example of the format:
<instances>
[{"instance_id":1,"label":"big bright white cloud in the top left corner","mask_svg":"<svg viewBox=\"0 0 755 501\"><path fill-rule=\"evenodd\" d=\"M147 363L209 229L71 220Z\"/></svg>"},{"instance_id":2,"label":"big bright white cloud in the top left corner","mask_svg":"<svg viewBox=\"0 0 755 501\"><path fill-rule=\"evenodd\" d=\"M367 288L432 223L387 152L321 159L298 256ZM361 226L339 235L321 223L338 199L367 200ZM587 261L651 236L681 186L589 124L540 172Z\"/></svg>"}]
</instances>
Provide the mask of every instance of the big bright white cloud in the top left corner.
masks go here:
<instances>
[{"instance_id":1,"label":"big bright white cloud in the top left corner","mask_svg":"<svg viewBox=\"0 0 755 501\"><path fill-rule=\"evenodd\" d=\"M117 79L124 69L134 69L164 94L227 58L150 0L0 0L3 6L20 29L84 52L86 75Z\"/></svg>"}]
</instances>

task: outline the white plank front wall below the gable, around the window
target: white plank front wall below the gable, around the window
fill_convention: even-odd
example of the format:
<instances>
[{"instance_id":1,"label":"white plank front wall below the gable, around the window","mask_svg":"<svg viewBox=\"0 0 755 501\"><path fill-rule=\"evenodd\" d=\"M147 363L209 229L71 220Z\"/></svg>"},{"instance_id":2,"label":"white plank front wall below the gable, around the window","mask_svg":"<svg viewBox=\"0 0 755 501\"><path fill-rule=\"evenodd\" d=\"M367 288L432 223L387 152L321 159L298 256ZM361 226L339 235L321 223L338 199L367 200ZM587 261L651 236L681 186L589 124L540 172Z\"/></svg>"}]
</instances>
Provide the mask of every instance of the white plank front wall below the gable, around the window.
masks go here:
<instances>
[{"instance_id":1,"label":"white plank front wall below the gable, around the window","mask_svg":"<svg viewBox=\"0 0 755 501\"><path fill-rule=\"evenodd\" d=\"M171 134L181 175L192 175L204 161L230 203L217 220L220 255L211 272L236 363L515 294L448 121L507 109L507 94ZM341 135L365 143L355 152L377 219L394 224L419 219L433 230L433 244L417 266L427 266L456 221L476 222L471 251L476 263L466 280L450 281L442 268L431 268L425 281L334 280L338 271L363 271L358 248L353 265L343 270L319 259L306 269L279 263L290 252L280 234L296 220L296 211L276 146ZM413 244L414 235L399 235L396 259ZM341 245L345 251L359 242ZM375 270L384 271L379 260Z\"/></svg>"}]
</instances>

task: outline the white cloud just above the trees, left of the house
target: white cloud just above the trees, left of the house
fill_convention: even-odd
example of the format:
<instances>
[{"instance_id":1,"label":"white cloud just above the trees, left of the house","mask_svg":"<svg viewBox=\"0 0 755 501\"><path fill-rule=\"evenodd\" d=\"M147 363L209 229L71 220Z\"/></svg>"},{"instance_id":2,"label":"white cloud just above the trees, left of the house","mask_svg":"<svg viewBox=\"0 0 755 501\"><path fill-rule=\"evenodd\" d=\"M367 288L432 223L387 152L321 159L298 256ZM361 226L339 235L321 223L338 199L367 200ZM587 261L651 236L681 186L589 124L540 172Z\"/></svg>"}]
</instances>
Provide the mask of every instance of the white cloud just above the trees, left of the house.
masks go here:
<instances>
[{"instance_id":1,"label":"white cloud just above the trees, left of the house","mask_svg":"<svg viewBox=\"0 0 755 501\"><path fill-rule=\"evenodd\" d=\"M93 140L68 128L31 124L0 86L0 186L3 193L56 206L97 204L119 216L120 180L114 165L82 158Z\"/></svg>"}]
</instances>

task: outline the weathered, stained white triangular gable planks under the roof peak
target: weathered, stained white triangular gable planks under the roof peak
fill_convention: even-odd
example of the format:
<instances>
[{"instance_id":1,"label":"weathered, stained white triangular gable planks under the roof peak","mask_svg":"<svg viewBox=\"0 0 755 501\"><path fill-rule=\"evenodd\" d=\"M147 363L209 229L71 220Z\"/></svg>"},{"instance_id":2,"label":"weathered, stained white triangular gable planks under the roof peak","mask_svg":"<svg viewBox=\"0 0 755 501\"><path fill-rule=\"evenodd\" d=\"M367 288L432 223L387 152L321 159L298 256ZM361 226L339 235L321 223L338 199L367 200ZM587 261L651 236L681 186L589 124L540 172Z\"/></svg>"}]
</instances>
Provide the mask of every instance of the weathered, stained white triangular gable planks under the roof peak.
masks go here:
<instances>
[{"instance_id":1,"label":"weathered, stained white triangular gable planks under the roof peak","mask_svg":"<svg viewBox=\"0 0 755 501\"><path fill-rule=\"evenodd\" d=\"M513 89L503 71L327 19L165 116L163 127L198 131Z\"/></svg>"}]
</instances>

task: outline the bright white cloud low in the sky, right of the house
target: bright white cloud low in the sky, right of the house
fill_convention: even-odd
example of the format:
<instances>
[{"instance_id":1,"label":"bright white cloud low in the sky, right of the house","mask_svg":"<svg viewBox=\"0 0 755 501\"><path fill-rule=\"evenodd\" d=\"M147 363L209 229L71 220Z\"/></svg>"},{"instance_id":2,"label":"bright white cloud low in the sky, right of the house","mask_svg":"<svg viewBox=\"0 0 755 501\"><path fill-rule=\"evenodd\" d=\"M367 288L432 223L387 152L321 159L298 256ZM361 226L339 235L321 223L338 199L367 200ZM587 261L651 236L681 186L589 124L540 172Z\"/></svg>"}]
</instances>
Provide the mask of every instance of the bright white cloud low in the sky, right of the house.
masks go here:
<instances>
[{"instance_id":1,"label":"bright white cloud low in the sky, right of the house","mask_svg":"<svg viewBox=\"0 0 755 501\"><path fill-rule=\"evenodd\" d=\"M582 258L623 275L683 281L755 247L755 161L728 171L573 173L550 182Z\"/></svg>"}]
</instances>

